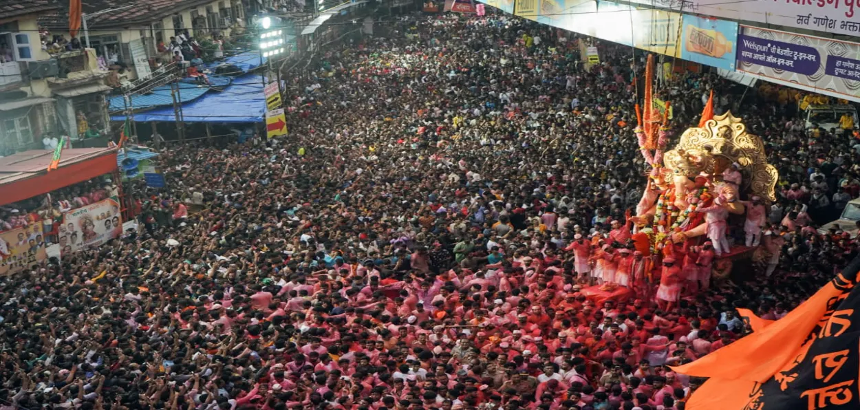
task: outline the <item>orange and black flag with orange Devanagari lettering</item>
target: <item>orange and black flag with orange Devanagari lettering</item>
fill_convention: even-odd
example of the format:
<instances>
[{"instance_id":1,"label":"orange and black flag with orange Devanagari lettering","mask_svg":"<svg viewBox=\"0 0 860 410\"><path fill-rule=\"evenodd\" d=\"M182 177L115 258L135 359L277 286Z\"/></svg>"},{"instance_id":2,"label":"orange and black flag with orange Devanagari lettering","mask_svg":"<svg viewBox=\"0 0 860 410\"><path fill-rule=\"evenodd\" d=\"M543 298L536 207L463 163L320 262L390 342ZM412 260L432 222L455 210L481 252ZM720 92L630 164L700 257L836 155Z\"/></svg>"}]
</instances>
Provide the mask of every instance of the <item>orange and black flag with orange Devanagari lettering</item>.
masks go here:
<instances>
[{"instance_id":1,"label":"orange and black flag with orange Devanagari lettering","mask_svg":"<svg viewBox=\"0 0 860 410\"><path fill-rule=\"evenodd\" d=\"M674 371L710 377L686 410L860 408L860 256L789 312ZM741 312L744 314L745 312Z\"/></svg>"}]
</instances>

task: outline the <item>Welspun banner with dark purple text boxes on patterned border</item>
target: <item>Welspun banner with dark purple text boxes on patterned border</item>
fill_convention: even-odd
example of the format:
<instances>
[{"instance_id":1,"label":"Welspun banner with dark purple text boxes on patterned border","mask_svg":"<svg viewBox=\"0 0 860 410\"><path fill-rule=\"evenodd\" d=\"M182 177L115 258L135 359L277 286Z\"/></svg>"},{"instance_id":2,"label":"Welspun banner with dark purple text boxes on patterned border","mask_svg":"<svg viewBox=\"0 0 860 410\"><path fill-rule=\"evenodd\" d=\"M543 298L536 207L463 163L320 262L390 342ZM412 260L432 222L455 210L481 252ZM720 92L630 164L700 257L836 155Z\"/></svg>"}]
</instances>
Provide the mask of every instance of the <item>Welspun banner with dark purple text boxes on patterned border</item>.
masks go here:
<instances>
[{"instance_id":1,"label":"Welspun banner with dark purple text boxes on patterned border","mask_svg":"<svg viewBox=\"0 0 860 410\"><path fill-rule=\"evenodd\" d=\"M735 70L860 102L860 45L740 26Z\"/></svg>"}]
</instances>

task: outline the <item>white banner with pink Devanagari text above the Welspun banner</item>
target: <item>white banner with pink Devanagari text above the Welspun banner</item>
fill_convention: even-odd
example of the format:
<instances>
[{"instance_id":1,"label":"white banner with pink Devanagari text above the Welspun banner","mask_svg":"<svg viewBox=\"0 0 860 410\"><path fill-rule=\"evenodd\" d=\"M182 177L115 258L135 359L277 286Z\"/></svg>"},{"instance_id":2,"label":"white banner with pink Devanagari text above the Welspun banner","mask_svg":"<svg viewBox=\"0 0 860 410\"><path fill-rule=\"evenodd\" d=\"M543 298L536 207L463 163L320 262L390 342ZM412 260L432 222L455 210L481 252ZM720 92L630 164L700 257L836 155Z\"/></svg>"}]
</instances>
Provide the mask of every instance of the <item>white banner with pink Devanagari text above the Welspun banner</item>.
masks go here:
<instances>
[{"instance_id":1,"label":"white banner with pink Devanagari text above the Welspun banner","mask_svg":"<svg viewBox=\"0 0 860 410\"><path fill-rule=\"evenodd\" d=\"M691 13L860 36L858 0L630 0Z\"/></svg>"}]
</instances>

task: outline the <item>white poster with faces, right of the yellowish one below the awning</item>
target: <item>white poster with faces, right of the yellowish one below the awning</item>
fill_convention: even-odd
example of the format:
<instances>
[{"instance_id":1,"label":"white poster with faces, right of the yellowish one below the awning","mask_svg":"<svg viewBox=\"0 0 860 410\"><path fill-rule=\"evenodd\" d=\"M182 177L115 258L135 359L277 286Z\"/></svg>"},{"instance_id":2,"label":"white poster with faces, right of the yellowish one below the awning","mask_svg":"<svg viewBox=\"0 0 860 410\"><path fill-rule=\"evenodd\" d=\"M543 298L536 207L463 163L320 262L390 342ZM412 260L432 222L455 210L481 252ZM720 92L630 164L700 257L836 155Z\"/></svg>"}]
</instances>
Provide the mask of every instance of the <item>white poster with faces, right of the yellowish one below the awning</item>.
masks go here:
<instances>
[{"instance_id":1,"label":"white poster with faces, right of the yellowish one below the awning","mask_svg":"<svg viewBox=\"0 0 860 410\"><path fill-rule=\"evenodd\" d=\"M99 246L122 235L120 202L105 199L66 212L59 228L60 254Z\"/></svg>"}]
</instances>

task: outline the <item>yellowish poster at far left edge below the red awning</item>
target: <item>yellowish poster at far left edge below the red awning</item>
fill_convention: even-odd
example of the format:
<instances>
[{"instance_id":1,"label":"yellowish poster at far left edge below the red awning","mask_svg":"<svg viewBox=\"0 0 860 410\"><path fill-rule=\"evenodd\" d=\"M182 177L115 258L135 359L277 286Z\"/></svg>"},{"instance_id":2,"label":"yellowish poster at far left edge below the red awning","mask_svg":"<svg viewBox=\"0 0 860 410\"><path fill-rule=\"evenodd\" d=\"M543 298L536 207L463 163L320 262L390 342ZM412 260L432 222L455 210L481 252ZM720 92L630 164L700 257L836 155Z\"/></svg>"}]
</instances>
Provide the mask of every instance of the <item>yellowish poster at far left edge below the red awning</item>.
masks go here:
<instances>
[{"instance_id":1,"label":"yellowish poster at far left edge below the red awning","mask_svg":"<svg viewBox=\"0 0 860 410\"><path fill-rule=\"evenodd\" d=\"M0 276L21 272L46 260L42 223L0 234Z\"/></svg>"}]
</instances>

